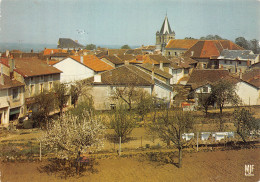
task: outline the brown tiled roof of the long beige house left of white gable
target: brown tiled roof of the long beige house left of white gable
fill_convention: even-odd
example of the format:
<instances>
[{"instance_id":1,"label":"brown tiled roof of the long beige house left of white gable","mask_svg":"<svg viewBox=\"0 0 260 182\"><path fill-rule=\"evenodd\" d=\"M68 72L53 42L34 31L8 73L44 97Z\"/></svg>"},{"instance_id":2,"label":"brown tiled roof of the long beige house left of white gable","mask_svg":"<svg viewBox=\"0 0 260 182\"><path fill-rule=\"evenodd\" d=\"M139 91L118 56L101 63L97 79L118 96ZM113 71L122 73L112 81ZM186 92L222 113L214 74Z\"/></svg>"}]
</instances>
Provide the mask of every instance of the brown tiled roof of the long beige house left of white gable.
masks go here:
<instances>
[{"instance_id":1,"label":"brown tiled roof of the long beige house left of white gable","mask_svg":"<svg viewBox=\"0 0 260 182\"><path fill-rule=\"evenodd\" d=\"M9 67L8 59L1 58L1 62ZM62 71L57 68L54 68L46 64L44 61L36 58L14 59L14 62L14 71L21 74L23 77L62 73Z\"/></svg>"}]
</instances>

